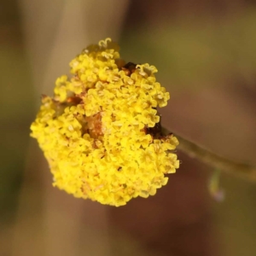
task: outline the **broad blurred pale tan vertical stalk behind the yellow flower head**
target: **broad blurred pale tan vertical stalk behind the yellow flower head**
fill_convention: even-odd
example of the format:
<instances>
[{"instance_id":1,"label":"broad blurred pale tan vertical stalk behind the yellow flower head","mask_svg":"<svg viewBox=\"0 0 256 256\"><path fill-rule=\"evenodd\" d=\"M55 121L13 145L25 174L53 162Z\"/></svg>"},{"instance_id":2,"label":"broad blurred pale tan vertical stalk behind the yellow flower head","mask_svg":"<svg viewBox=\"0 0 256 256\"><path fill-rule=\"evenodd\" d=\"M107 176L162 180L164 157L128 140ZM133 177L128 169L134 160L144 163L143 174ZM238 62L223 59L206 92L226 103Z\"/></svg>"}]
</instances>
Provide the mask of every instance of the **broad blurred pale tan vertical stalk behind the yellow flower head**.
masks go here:
<instances>
[{"instance_id":1,"label":"broad blurred pale tan vertical stalk behind the yellow flower head","mask_svg":"<svg viewBox=\"0 0 256 256\"><path fill-rule=\"evenodd\" d=\"M52 90L56 77L67 73L68 62L86 45L107 37L118 39L127 7L128 1L119 0L20 0L38 100L42 92ZM26 170L20 191L12 255L82 255L84 250L88 255L110 255L107 207L84 205L52 189L49 173L43 172L48 166L36 152L32 147L29 157L37 163ZM42 177L35 186L28 182L33 175ZM46 187L43 196L41 185ZM31 197L32 206L27 199Z\"/></svg>"}]
</instances>

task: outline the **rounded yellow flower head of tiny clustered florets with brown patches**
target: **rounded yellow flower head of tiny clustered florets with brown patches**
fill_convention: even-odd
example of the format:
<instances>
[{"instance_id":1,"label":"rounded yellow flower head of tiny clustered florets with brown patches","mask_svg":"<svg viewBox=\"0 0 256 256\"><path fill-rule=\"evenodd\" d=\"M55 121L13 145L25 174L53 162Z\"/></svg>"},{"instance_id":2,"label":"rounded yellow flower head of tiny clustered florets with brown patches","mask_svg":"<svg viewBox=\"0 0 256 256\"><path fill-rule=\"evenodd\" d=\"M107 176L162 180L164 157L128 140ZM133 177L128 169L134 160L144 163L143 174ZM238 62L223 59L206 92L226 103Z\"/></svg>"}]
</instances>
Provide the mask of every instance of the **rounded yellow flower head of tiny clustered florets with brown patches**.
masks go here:
<instances>
[{"instance_id":1,"label":"rounded yellow flower head of tiny clustered florets with brown patches","mask_svg":"<svg viewBox=\"0 0 256 256\"><path fill-rule=\"evenodd\" d=\"M179 165L177 138L160 134L156 108L170 96L155 80L157 69L125 64L109 38L70 66L72 78L61 76L54 96L42 96L31 125L54 186L116 207L154 195Z\"/></svg>"}]
</instances>

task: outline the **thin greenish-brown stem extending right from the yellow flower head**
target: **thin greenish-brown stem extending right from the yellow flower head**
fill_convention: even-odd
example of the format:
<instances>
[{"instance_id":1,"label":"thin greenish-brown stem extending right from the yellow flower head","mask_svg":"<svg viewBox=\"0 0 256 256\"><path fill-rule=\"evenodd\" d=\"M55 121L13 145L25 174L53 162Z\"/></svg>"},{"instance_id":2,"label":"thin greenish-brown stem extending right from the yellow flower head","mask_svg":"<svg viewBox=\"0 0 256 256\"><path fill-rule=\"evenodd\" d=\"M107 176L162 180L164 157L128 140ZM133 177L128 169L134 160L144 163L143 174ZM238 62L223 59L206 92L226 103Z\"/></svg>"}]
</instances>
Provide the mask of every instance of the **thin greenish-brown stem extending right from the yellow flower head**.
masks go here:
<instances>
[{"instance_id":1,"label":"thin greenish-brown stem extending right from the yellow flower head","mask_svg":"<svg viewBox=\"0 0 256 256\"><path fill-rule=\"evenodd\" d=\"M168 134L170 131L162 128L162 133ZM177 140L179 141L177 149L182 150L191 158L201 160L201 162L209 166L236 177L240 177L247 181L256 182L256 166L250 166L244 163L237 163L236 161L228 160L218 154L213 153L207 148L203 148L196 143L190 142L181 136L175 135L175 137L177 137Z\"/></svg>"}]
</instances>

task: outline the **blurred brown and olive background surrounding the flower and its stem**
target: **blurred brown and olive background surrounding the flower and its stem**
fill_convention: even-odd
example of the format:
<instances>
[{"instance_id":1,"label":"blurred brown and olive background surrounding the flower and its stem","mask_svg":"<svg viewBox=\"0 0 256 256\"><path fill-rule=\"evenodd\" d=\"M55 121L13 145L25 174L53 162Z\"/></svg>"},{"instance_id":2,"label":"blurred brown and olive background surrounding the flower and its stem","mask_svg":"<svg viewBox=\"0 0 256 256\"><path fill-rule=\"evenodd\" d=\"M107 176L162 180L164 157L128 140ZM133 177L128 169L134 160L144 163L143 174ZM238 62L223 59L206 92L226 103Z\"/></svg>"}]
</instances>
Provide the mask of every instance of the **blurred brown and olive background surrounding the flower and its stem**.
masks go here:
<instances>
[{"instance_id":1,"label":"blurred brown and olive background surrounding the flower and its stem","mask_svg":"<svg viewBox=\"0 0 256 256\"><path fill-rule=\"evenodd\" d=\"M254 1L9 0L0 5L0 255L256 255L256 184L178 152L182 165L147 200L113 208L73 198L51 175L29 126L42 93L81 49L111 37L171 92L163 123L256 164Z\"/></svg>"}]
</instances>

